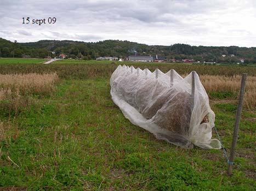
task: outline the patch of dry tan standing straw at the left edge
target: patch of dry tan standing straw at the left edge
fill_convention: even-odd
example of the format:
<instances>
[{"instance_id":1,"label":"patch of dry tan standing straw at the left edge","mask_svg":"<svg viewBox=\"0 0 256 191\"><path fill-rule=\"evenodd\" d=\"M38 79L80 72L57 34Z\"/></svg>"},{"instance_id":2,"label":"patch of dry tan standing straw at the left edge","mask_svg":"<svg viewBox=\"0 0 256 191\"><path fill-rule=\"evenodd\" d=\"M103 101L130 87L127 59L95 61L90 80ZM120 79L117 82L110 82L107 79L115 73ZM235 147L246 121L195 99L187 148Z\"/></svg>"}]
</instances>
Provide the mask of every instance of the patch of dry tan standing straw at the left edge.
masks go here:
<instances>
[{"instance_id":1,"label":"patch of dry tan standing straw at the left edge","mask_svg":"<svg viewBox=\"0 0 256 191\"><path fill-rule=\"evenodd\" d=\"M30 104L29 94L49 94L55 89L58 75L52 74L0 74L0 106L18 112Z\"/></svg>"}]
</instances>

